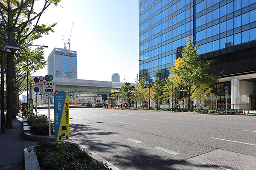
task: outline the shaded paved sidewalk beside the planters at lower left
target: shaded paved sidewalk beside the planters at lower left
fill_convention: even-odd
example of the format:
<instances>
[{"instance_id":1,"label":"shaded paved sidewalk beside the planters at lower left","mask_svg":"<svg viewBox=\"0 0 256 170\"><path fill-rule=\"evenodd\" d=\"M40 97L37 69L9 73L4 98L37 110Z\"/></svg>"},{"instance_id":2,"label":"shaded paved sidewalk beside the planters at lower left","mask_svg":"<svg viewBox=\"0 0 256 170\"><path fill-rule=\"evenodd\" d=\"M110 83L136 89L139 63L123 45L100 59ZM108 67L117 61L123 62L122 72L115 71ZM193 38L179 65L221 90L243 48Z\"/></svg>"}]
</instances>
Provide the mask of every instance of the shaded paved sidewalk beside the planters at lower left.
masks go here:
<instances>
[{"instance_id":1,"label":"shaded paved sidewalk beside the planters at lower left","mask_svg":"<svg viewBox=\"0 0 256 170\"><path fill-rule=\"evenodd\" d=\"M21 114L12 119L13 129L5 129L0 133L0 170L24 170L23 150L35 146L36 141L23 139Z\"/></svg>"}]
</instances>

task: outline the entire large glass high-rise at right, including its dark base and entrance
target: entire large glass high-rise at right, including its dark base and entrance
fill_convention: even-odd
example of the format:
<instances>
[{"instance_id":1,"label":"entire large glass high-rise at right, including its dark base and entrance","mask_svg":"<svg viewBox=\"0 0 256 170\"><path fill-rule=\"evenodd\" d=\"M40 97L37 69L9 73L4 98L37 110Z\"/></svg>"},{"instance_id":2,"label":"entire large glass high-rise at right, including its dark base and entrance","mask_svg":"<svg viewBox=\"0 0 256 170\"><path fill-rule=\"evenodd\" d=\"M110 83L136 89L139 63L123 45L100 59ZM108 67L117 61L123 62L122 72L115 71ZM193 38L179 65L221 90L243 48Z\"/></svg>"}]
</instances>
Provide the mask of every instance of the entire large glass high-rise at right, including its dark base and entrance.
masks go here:
<instances>
[{"instance_id":1,"label":"entire large glass high-rise at right, including its dark base and entrance","mask_svg":"<svg viewBox=\"0 0 256 170\"><path fill-rule=\"evenodd\" d=\"M209 72L224 71L215 85L218 104L256 109L256 0L139 0L139 11L140 75L147 81L156 71L169 76L191 36L199 60L215 60Z\"/></svg>"}]
</instances>

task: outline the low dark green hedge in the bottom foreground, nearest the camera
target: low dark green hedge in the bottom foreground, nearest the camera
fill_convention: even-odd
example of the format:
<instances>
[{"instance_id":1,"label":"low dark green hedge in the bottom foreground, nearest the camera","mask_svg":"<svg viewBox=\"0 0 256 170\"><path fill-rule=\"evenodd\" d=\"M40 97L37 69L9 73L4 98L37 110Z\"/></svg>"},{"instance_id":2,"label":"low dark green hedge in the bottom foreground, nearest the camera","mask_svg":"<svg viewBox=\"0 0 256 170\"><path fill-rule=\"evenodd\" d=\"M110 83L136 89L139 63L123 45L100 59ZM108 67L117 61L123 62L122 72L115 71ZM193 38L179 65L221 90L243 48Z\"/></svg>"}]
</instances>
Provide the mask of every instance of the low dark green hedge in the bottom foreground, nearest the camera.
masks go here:
<instances>
[{"instance_id":1,"label":"low dark green hedge in the bottom foreground, nearest the camera","mask_svg":"<svg viewBox=\"0 0 256 170\"><path fill-rule=\"evenodd\" d=\"M70 142L40 141L34 148L41 170L112 170L107 164L94 162L93 158Z\"/></svg>"}]
</instances>

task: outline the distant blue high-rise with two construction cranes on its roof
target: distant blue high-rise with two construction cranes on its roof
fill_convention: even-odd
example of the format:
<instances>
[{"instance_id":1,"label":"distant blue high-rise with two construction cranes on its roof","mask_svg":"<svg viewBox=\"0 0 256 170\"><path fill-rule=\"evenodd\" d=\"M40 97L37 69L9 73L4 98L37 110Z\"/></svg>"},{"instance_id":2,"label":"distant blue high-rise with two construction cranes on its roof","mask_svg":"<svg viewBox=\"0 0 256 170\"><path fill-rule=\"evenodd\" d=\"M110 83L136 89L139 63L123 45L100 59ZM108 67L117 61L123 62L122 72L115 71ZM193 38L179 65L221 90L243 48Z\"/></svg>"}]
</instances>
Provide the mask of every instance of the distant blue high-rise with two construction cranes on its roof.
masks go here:
<instances>
[{"instance_id":1,"label":"distant blue high-rise with two construction cranes on its roof","mask_svg":"<svg viewBox=\"0 0 256 170\"><path fill-rule=\"evenodd\" d=\"M76 51L54 48L48 56L48 74L53 77L77 79Z\"/></svg>"}]
</instances>

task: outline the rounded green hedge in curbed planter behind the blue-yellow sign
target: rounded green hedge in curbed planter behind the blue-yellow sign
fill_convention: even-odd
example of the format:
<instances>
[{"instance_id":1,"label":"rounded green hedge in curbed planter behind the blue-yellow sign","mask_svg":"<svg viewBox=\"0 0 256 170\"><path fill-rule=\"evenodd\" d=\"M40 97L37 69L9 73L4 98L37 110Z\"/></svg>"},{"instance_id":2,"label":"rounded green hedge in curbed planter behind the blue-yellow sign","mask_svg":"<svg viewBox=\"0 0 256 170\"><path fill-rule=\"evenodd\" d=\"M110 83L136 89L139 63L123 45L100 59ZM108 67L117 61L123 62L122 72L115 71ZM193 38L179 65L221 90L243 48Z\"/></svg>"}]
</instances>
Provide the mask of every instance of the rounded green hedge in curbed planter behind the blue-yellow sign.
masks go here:
<instances>
[{"instance_id":1,"label":"rounded green hedge in curbed planter behind the blue-yellow sign","mask_svg":"<svg viewBox=\"0 0 256 170\"><path fill-rule=\"evenodd\" d=\"M49 135L49 122L46 115L27 114L27 122L30 126L30 133L34 135ZM51 123L51 135L53 135L53 123Z\"/></svg>"}]
</instances>

